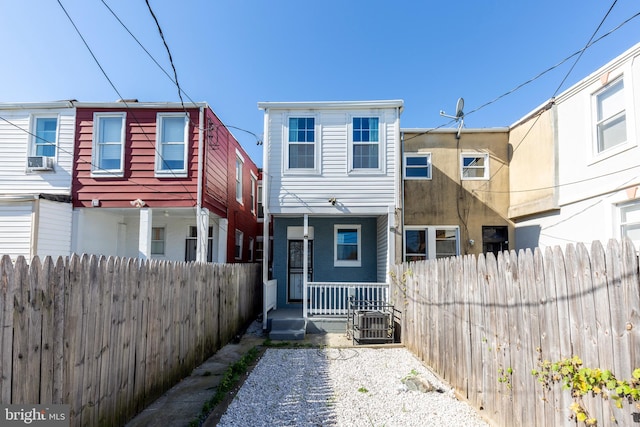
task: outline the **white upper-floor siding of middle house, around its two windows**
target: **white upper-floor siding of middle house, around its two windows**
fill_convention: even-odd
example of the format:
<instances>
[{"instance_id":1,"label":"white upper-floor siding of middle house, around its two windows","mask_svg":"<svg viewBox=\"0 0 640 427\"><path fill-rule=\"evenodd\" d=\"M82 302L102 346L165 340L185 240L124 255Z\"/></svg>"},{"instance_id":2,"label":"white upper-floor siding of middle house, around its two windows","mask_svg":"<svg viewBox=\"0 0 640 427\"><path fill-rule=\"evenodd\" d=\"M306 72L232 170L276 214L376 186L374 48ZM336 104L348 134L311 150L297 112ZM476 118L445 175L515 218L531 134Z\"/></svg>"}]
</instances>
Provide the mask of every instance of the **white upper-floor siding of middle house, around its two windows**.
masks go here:
<instances>
[{"instance_id":1,"label":"white upper-floor siding of middle house, around its two windows","mask_svg":"<svg viewBox=\"0 0 640 427\"><path fill-rule=\"evenodd\" d=\"M319 174L284 173L285 120L289 116L314 114L320 127L316 141L320 144ZM380 117L384 137L384 173L349 174L349 122L353 116ZM396 148L399 143L394 109L270 111L267 154L268 206L273 214L319 213L349 214L367 211L383 214L395 203ZM328 200L336 198L331 206ZM372 209L369 209L372 208Z\"/></svg>"}]
</instances>

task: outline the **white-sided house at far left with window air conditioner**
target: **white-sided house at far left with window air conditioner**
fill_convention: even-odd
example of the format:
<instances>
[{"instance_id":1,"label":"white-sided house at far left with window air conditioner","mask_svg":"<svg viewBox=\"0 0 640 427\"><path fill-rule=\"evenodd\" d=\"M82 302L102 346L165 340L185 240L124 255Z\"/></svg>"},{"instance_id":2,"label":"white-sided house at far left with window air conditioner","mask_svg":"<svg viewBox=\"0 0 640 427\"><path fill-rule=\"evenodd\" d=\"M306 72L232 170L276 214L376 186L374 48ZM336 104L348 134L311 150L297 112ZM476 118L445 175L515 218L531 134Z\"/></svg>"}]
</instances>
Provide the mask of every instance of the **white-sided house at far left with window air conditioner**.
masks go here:
<instances>
[{"instance_id":1,"label":"white-sided house at far left with window air conditioner","mask_svg":"<svg viewBox=\"0 0 640 427\"><path fill-rule=\"evenodd\" d=\"M0 104L0 117L0 254L67 256L75 108L67 101Z\"/></svg>"}]
</instances>

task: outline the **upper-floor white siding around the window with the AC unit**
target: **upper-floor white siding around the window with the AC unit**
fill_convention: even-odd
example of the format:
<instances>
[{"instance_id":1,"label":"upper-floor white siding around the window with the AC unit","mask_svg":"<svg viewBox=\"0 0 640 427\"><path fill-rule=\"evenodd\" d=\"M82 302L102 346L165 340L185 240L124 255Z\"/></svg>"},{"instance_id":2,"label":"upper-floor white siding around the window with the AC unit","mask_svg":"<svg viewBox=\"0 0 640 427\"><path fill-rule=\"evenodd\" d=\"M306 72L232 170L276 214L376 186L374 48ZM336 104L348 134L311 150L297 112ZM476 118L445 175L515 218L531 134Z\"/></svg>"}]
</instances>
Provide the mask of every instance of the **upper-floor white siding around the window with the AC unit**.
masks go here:
<instances>
[{"instance_id":1,"label":"upper-floor white siding around the window with the AC unit","mask_svg":"<svg viewBox=\"0 0 640 427\"><path fill-rule=\"evenodd\" d=\"M53 171L27 171L33 114L58 115L58 147ZM75 109L0 110L0 193L71 194Z\"/></svg>"}]
</instances>

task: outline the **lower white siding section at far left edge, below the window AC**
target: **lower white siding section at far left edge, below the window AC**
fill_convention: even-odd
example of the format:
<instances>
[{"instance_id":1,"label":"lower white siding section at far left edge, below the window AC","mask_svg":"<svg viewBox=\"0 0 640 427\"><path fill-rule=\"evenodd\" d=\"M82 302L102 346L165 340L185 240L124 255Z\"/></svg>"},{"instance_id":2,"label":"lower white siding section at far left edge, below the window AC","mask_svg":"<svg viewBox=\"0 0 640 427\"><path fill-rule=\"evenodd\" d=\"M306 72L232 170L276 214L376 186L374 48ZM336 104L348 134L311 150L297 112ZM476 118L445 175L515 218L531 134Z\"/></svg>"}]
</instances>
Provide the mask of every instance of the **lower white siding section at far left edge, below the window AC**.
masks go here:
<instances>
[{"instance_id":1,"label":"lower white siding section at far left edge, below the window AC","mask_svg":"<svg viewBox=\"0 0 640 427\"><path fill-rule=\"evenodd\" d=\"M0 255L31 261L33 202L0 204Z\"/></svg>"}]
</instances>

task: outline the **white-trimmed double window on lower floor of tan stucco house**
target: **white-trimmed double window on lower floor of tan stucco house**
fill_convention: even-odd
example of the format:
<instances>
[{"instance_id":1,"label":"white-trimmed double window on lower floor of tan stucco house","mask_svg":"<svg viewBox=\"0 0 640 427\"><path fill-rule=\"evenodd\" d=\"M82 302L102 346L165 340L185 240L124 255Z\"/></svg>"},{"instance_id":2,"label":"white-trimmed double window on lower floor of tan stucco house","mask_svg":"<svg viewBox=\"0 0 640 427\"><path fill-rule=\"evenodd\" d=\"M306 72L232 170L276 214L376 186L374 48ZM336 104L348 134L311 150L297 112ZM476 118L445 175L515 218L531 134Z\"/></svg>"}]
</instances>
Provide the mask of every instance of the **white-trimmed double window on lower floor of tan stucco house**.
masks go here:
<instances>
[{"instance_id":1,"label":"white-trimmed double window on lower floor of tan stucco house","mask_svg":"<svg viewBox=\"0 0 640 427\"><path fill-rule=\"evenodd\" d=\"M460 232L457 226L406 226L405 262L460 255Z\"/></svg>"}]
</instances>

